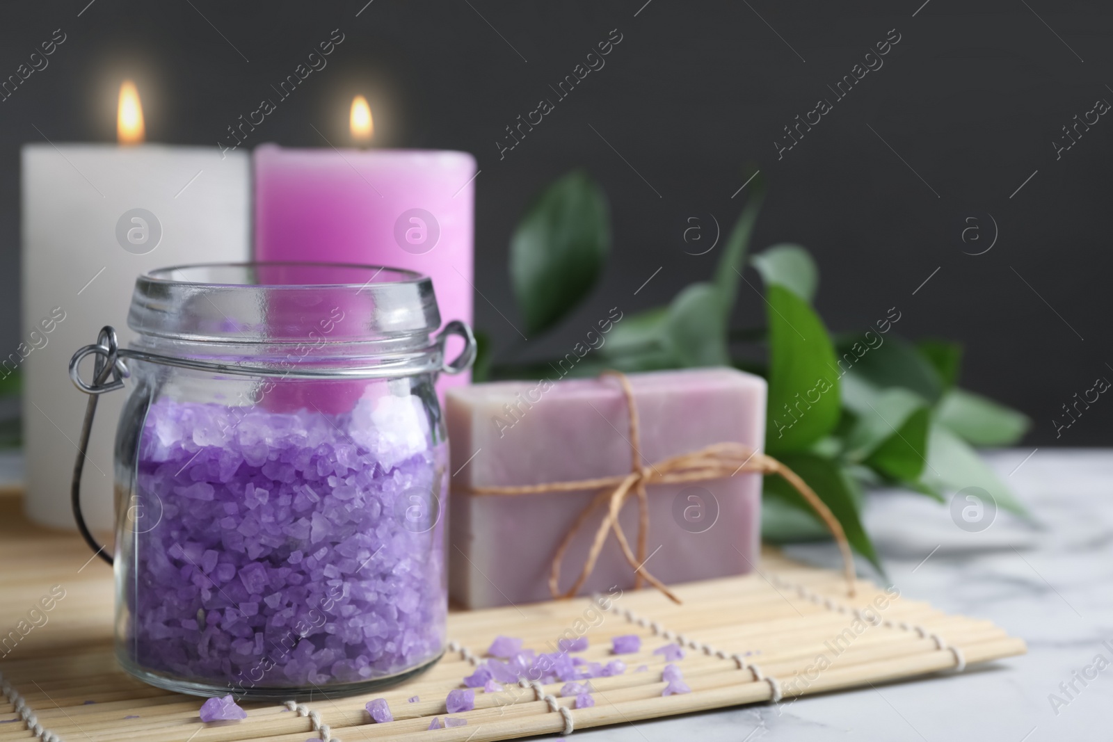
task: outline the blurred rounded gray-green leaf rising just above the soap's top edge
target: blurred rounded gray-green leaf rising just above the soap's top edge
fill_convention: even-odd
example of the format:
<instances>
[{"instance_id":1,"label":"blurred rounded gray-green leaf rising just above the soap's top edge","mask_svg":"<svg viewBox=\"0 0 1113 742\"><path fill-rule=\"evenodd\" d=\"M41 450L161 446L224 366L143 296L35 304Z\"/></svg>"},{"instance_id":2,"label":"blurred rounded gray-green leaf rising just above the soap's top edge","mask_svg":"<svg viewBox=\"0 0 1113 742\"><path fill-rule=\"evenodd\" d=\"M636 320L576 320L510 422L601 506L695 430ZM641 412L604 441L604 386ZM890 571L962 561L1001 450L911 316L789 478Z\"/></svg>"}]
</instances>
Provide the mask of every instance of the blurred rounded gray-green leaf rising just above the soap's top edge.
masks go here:
<instances>
[{"instance_id":1,"label":"blurred rounded gray-green leaf rising just above the soap's top edge","mask_svg":"<svg viewBox=\"0 0 1113 742\"><path fill-rule=\"evenodd\" d=\"M684 287L669 305L664 348L681 366L727 366L727 313L713 284Z\"/></svg>"}]
</instances>

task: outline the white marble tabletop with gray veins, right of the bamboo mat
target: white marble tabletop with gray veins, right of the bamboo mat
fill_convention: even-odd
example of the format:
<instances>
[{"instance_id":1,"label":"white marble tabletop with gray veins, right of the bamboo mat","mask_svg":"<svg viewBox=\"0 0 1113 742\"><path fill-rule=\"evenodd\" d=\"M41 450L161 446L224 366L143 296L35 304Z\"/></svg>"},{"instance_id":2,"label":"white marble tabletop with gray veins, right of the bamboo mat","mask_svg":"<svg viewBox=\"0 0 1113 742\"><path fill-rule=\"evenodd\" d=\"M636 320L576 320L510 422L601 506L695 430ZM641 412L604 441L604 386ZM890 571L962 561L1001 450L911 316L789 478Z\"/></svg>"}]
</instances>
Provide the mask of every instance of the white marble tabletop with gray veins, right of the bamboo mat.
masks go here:
<instances>
[{"instance_id":1,"label":"white marble tabletop with gray veins, right of the bamboo mat","mask_svg":"<svg viewBox=\"0 0 1113 742\"><path fill-rule=\"evenodd\" d=\"M988 456L1008 476L1032 449ZM951 613L989 619L1028 654L877 689L801 698L575 732L583 742L879 740L1044 742L1110 740L1113 665L1070 700L1058 689L1096 654L1113 662L1113 452L1040 449L1008 478L1041 522L998 515L961 531L949 509L919 495L879 493L867 524L902 594ZM938 546L938 548L936 548ZM934 551L934 553L933 553ZM834 548L794 547L836 566ZM925 557L930 554L925 561ZM1048 694L1068 705L1052 709Z\"/></svg>"}]
</instances>

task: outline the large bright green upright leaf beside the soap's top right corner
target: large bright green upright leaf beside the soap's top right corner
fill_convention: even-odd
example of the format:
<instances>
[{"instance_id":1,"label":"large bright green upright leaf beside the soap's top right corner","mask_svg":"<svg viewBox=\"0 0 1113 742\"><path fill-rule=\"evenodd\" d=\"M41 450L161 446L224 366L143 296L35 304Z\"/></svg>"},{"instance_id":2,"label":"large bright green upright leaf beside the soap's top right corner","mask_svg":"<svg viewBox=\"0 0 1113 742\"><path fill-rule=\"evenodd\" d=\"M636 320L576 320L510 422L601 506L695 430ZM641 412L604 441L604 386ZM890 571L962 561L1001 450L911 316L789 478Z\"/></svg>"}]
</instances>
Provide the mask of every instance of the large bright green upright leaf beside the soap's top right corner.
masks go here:
<instances>
[{"instance_id":1,"label":"large bright green upright leaf beside the soap's top right corner","mask_svg":"<svg viewBox=\"0 0 1113 742\"><path fill-rule=\"evenodd\" d=\"M766 286L769 412L766 451L800 451L835 429L840 410L835 349L823 320L779 284Z\"/></svg>"}]
</instances>

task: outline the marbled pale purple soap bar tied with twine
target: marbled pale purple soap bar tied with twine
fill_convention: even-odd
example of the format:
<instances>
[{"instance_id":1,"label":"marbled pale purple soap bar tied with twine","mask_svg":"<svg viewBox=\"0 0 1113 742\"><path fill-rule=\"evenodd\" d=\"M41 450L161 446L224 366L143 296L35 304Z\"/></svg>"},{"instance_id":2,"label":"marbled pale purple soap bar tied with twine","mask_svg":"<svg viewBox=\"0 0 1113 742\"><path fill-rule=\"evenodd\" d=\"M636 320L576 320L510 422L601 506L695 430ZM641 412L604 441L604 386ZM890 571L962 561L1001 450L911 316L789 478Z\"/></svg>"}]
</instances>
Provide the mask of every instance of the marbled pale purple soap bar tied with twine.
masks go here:
<instances>
[{"instance_id":1,"label":"marbled pale purple soap bar tied with twine","mask_svg":"<svg viewBox=\"0 0 1113 742\"><path fill-rule=\"evenodd\" d=\"M733 442L760 449L766 383L732 368L630 374L646 463ZM452 389L449 584L469 609L551 600L553 553L597 491L475 495L469 489L622 475L630 472L630 417L614 378L498 382ZM760 547L760 475L648 488L646 568L666 583L749 572ZM630 497L620 522L637 543ZM573 538L561 590L575 580L602 511ZM658 548L660 547L660 548ZM622 590L634 574L611 534L581 594Z\"/></svg>"}]
</instances>

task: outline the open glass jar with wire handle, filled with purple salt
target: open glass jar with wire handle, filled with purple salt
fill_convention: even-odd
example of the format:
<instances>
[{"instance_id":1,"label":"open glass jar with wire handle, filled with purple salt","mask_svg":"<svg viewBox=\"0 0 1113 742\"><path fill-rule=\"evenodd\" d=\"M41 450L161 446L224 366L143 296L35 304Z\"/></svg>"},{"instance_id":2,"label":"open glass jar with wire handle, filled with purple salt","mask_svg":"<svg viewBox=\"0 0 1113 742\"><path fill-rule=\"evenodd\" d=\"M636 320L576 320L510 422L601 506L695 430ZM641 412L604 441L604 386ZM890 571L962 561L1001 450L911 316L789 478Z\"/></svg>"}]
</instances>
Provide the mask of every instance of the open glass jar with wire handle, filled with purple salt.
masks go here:
<instances>
[{"instance_id":1,"label":"open glass jar with wire handle, filled with purple salt","mask_svg":"<svg viewBox=\"0 0 1113 742\"><path fill-rule=\"evenodd\" d=\"M441 656L449 444L434 383L475 343L463 323L431 339L440 324L430 279L392 268L200 265L136 281L131 345L105 328L70 368L90 394L132 382L115 448L125 670L285 700L364 692ZM464 352L446 364L452 334ZM91 385L78 373L90 354Z\"/></svg>"}]
</instances>

